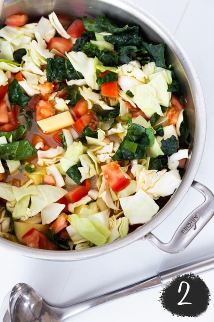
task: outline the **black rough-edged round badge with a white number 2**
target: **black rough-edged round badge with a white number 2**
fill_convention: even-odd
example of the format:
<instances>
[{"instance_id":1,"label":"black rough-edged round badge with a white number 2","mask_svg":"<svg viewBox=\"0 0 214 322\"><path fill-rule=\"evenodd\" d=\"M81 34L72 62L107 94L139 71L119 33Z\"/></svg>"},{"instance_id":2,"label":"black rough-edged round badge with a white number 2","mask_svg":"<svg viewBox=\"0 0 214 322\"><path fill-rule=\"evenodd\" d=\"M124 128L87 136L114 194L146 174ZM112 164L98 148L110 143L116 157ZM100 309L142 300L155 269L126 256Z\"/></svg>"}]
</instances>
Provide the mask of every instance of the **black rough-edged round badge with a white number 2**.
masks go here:
<instances>
[{"instance_id":1,"label":"black rough-edged round badge with a white number 2","mask_svg":"<svg viewBox=\"0 0 214 322\"><path fill-rule=\"evenodd\" d=\"M173 315L197 317L209 305L210 291L204 281L193 273L179 275L161 291L160 302Z\"/></svg>"}]
</instances>

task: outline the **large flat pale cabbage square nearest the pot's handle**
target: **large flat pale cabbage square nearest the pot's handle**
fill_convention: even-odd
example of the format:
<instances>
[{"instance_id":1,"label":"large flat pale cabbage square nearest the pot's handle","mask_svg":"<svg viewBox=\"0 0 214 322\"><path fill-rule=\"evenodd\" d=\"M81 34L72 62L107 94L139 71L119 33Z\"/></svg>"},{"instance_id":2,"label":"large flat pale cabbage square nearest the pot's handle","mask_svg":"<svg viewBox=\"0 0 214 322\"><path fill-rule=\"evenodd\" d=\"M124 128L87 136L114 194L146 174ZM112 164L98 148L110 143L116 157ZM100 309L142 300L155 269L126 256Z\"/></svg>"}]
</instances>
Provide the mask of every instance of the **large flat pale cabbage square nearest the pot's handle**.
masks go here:
<instances>
[{"instance_id":1,"label":"large flat pale cabbage square nearest the pot's handle","mask_svg":"<svg viewBox=\"0 0 214 322\"><path fill-rule=\"evenodd\" d=\"M133 196L119 200L130 225L148 222L159 210L159 206L143 190L138 190Z\"/></svg>"}]
</instances>

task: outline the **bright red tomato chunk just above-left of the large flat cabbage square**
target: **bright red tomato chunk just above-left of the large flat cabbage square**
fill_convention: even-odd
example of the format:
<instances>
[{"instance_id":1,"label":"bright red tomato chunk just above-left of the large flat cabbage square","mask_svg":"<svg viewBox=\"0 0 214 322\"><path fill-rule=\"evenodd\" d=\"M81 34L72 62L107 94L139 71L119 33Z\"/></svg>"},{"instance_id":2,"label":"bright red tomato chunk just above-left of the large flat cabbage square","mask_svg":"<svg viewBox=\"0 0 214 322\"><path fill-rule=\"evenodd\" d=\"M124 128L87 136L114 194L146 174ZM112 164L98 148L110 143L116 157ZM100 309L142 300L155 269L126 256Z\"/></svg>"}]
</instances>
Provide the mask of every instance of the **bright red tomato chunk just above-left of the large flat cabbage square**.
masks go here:
<instances>
[{"instance_id":1,"label":"bright red tomato chunk just above-left of the large flat cabbage square","mask_svg":"<svg viewBox=\"0 0 214 322\"><path fill-rule=\"evenodd\" d=\"M120 170L120 165L117 161L101 166L101 168L105 179L114 192L119 192L130 184L129 179L127 179Z\"/></svg>"}]
</instances>

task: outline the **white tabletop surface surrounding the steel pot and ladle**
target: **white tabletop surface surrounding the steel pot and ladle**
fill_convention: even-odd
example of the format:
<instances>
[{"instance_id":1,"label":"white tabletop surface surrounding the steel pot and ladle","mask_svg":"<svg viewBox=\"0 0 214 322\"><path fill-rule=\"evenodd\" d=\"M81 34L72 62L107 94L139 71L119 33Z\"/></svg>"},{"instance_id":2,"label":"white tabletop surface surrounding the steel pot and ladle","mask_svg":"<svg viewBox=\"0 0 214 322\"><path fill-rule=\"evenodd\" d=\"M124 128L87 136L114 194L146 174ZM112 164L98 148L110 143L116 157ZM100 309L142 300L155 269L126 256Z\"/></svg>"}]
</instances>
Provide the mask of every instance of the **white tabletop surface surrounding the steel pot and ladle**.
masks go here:
<instances>
[{"instance_id":1,"label":"white tabletop surface surrounding the steel pot and ladle","mask_svg":"<svg viewBox=\"0 0 214 322\"><path fill-rule=\"evenodd\" d=\"M214 192L213 122L214 122L214 2L212 0L135 0L153 14L175 35L189 55L199 75L207 108L207 139L196 180ZM155 229L154 233L167 242L175 227L202 201L201 195L190 189L176 210ZM175 264L210 254L214 248L214 218L182 253L169 255L156 250L149 242L139 241L124 249L95 259L78 262L47 262L17 256L0 249L0 304L7 292L18 282L35 288L47 301L66 304L123 287L156 274ZM208 310L197 321L211 321L214 314L214 272L201 274L211 292ZM158 301L160 288L147 290L109 304L83 312L73 322L108 321L190 321L175 317ZM199 294L200 296L200 294Z\"/></svg>"}]
</instances>

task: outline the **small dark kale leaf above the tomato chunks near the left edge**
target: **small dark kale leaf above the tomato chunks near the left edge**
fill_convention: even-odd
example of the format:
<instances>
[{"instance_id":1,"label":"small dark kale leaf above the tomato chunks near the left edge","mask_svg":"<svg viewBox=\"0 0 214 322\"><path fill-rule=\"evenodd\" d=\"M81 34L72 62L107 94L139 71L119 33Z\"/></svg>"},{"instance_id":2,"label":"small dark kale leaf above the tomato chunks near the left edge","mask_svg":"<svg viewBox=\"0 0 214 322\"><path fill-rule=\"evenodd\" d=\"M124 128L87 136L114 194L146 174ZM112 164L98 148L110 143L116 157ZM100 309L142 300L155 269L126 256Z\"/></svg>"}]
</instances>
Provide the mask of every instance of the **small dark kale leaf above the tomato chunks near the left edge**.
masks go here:
<instances>
[{"instance_id":1,"label":"small dark kale leaf above the tomato chunks near the left edge","mask_svg":"<svg viewBox=\"0 0 214 322\"><path fill-rule=\"evenodd\" d=\"M30 97L23 93L21 86L15 78L13 79L12 83L9 84L8 92L10 102L19 105L22 109L25 108L30 101Z\"/></svg>"}]
</instances>

